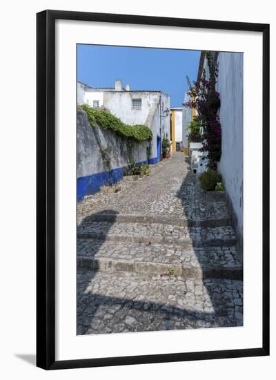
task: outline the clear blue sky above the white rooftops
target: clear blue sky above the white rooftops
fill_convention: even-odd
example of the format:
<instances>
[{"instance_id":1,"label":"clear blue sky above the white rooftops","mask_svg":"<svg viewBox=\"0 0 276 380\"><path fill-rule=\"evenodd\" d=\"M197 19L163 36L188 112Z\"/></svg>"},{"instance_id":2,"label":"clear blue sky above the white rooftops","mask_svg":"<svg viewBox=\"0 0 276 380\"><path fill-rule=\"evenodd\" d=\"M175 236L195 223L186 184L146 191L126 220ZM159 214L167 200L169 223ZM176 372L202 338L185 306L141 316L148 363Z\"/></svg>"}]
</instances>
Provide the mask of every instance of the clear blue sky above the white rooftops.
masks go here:
<instances>
[{"instance_id":1,"label":"clear blue sky above the white rooftops","mask_svg":"<svg viewBox=\"0 0 276 380\"><path fill-rule=\"evenodd\" d=\"M161 90L170 106L180 107L188 89L186 75L197 78L200 51L119 46L77 46L77 80L114 87L115 79L131 90Z\"/></svg>"}]
</instances>

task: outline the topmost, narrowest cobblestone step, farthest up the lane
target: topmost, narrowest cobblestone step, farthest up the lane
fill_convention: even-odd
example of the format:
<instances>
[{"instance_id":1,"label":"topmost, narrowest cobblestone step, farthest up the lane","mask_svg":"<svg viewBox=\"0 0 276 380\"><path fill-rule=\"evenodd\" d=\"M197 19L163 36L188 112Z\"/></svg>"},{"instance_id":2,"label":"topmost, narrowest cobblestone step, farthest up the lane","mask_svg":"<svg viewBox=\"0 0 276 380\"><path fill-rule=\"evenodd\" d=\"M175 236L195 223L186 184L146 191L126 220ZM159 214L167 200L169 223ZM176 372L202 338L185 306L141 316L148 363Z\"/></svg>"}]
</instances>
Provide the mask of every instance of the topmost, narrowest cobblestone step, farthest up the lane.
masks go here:
<instances>
[{"instance_id":1,"label":"topmost, narrowest cobblestone step, farthest up the lane","mask_svg":"<svg viewBox=\"0 0 276 380\"><path fill-rule=\"evenodd\" d=\"M86 223L88 222L117 222L117 223L126 223L126 222L148 222L148 223L161 223L164 225L179 225L184 227L225 227L231 225L230 216L224 218L213 218L213 219L188 219L184 218L179 219L170 216L161 216L161 215L146 215L145 213L94 213L91 216L86 218Z\"/></svg>"}]
</instances>

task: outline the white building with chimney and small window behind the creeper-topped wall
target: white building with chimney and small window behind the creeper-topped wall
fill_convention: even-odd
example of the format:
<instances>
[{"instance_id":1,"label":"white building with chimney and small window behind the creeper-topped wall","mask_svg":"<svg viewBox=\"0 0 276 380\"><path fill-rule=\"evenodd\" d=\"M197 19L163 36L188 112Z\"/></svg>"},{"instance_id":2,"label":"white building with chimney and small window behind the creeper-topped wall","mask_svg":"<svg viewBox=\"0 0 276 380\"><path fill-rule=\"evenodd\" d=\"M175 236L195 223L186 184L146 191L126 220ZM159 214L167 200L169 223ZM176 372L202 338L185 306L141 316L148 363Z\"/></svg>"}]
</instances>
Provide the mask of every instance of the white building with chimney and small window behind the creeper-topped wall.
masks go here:
<instances>
[{"instance_id":1,"label":"white building with chimney and small window behind the creeper-topped wall","mask_svg":"<svg viewBox=\"0 0 276 380\"><path fill-rule=\"evenodd\" d=\"M152 130L152 153L150 163L161 158L161 140L170 136L170 98L163 91L132 91L130 84L123 88L117 79L113 88L93 88L77 83L78 104L105 108L130 125L144 124Z\"/></svg>"}]
</instances>

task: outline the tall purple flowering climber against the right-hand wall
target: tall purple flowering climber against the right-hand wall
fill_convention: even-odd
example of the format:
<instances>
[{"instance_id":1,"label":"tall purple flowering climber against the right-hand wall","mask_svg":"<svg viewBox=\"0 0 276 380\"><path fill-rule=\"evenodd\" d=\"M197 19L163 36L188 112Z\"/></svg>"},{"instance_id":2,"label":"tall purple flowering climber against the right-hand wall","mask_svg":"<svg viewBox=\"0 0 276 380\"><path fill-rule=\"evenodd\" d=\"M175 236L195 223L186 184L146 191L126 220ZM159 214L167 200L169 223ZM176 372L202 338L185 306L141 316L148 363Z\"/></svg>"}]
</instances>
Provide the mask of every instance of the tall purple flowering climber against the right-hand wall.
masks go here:
<instances>
[{"instance_id":1,"label":"tall purple flowering climber against the right-hand wall","mask_svg":"<svg viewBox=\"0 0 276 380\"><path fill-rule=\"evenodd\" d=\"M206 53L210 77L206 79L206 71L203 70L199 80L191 85L188 79L190 101L186 102L189 108L195 108L197 115L195 122L199 123L201 129L201 151L208 152L208 166L215 169L216 162L221 157L221 124L217 115L220 106L219 93L215 89L217 83L218 67L214 63L210 53Z\"/></svg>"}]
</instances>

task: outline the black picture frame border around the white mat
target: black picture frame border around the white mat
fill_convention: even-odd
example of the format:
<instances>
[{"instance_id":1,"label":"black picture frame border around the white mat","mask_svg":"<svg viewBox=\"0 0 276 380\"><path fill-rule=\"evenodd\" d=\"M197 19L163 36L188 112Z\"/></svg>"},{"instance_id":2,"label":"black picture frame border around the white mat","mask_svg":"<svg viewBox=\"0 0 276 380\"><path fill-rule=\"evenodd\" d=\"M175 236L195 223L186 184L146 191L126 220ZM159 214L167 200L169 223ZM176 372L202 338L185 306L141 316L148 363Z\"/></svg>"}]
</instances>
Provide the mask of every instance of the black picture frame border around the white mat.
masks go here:
<instances>
[{"instance_id":1,"label":"black picture frame border around the white mat","mask_svg":"<svg viewBox=\"0 0 276 380\"><path fill-rule=\"evenodd\" d=\"M55 21L102 21L262 32L263 342L262 347L100 359L55 359ZM46 370L269 355L269 25L45 10L37 13L37 366Z\"/></svg>"}]
</instances>

